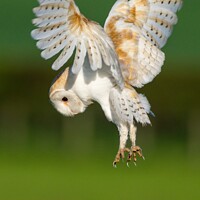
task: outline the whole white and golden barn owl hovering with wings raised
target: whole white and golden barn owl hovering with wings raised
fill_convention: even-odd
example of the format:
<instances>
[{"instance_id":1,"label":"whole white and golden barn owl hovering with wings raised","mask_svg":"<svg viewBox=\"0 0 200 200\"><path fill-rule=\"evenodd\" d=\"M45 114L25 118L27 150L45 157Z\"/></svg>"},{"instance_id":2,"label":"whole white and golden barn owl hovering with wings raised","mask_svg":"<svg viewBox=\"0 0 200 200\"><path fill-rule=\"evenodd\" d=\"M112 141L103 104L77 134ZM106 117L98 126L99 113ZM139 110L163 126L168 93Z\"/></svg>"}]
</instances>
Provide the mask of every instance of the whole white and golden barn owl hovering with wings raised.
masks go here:
<instances>
[{"instance_id":1,"label":"whole white and golden barn owl hovering with wings raised","mask_svg":"<svg viewBox=\"0 0 200 200\"><path fill-rule=\"evenodd\" d=\"M104 28L81 14L73 0L38 0L33 9L37 29L31 32L49 59L60 69L74 53L72 66L50 87L53 106L65 116L82 113L98 102L119 131L119 149L113 165L127 153L127 163L143 157L136 145L136 122L151 124L150 104L138 94L157 76L165 60L161 48L177 23L182 0L117 0ZM131 147L126 146L128 138Z\"/></svg>"}]
</instances>

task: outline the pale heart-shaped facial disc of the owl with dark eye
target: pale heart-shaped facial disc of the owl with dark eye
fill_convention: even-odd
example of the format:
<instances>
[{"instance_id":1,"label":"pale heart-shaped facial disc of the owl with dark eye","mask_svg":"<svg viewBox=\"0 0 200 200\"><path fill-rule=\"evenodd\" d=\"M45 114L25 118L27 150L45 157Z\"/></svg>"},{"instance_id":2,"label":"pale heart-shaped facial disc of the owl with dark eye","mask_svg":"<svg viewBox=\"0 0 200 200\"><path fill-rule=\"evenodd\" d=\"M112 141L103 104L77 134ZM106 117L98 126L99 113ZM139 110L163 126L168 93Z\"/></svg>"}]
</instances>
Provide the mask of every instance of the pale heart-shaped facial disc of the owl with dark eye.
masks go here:
<instances>
[{"instance_id":1,"label":"pale heart-shaped facial disc of the owl with dark eye","mask_svg":"<svg viewBox=\"0 0 200 200\"><path fill-rule=\"evenodd\" d=\"M86 109L84 103L72 90L55 90L50 94L50 100L56 110L65 116L74 116Z\"/></svg>"}]
</instances>

